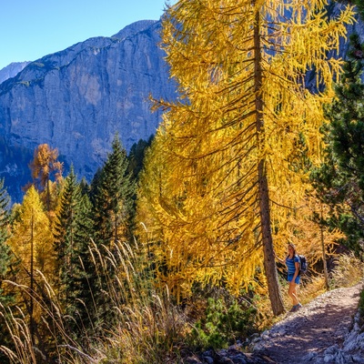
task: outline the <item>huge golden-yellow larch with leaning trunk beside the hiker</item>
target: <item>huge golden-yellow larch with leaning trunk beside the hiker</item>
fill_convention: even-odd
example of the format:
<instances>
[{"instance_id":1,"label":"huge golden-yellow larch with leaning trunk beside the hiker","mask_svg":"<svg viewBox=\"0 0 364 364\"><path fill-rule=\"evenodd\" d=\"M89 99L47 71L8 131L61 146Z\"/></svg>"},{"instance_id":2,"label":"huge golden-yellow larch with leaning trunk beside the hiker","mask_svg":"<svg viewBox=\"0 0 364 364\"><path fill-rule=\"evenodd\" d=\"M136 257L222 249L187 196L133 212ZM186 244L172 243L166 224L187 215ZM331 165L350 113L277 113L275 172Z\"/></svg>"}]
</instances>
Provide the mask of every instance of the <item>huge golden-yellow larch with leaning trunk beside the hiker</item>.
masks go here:
<instances>
[{"instance_id":1,"label":"huge golden-yellow larch with leaning trunk beside the hiker","mask_svg":"<svg viewBox=\"0 0 364 364\"><path fill-rule=\"evenodd\" d=\"M287 217L304 202L329 100L304 87L305 73L315 68L329 92L340 61L327 54L352 22L349 6L329 20L323 5L181 0L167 11L162 44L180 98L160 102L165 193L150 199L175 284L221 279L238 289L264 268L273 311L284 310L273 235L282 249L295 234Z\"/></svg>"}]
</instances>

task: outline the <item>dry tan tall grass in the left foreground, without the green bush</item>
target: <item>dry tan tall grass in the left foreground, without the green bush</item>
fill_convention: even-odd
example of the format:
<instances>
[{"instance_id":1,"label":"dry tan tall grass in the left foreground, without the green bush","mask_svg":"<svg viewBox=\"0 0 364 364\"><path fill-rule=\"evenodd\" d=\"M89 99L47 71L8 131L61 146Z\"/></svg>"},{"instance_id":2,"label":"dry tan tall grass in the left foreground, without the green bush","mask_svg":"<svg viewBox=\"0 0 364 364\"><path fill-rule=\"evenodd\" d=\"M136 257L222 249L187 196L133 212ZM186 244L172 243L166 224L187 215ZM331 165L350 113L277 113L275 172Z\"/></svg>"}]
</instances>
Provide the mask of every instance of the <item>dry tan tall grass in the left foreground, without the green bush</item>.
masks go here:
<instances>
[{"instance_id":1,"label":"dry tan tall grass in the left foreground, without the green bush","mask_svg":"<svg viewBox=\"0 0 364 364\"><path fill-rule=\"evenodd\" d=\"M131 247L118 243L113 250L103 256L95 244L90 249L95 261L102 259L104 269L109 265L117 268L116 279L107 282L107 294L112 299L117 322L113 332L104 331L92 338L86 335L82 340L74 338L66 329L66 319L70 318L63 316L56 292L39 273L47 293L47 304L35 293L33 299L41 308L41 319L48 327L48 335L55 341L56 349L53 358L47 357L36 338L31 338L25 311L16 308L17 312L12 312L2 307L1 315L13 340L13 349L4 345L0 349L11 363L157 364L176 359L175 345L183 337L187 320L173 304L167 289L156 290L150 261L143 256L142 249L136 244ZM17 288L29 294L29 288Z\"/></svg>"}]
</instances>

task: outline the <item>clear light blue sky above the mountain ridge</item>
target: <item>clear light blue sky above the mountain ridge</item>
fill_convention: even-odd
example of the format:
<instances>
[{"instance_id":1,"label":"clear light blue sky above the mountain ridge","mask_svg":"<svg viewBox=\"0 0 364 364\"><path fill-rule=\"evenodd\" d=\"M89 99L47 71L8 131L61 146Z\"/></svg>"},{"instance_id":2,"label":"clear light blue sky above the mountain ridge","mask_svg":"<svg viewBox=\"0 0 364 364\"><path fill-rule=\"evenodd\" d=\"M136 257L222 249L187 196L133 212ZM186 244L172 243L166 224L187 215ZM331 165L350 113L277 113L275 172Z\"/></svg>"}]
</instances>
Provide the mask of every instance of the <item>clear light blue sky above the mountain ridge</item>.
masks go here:
<instances>
[{"instance_id":1,"label":"clear light blue sky above the mountain ridge","mask_svg":"<svg viewBox=\"0 0 364 364\"><path fill-rule=\"evenodd\" d=\"M176 4L177 0L169 1ZM0 69L158 20L166 0L0 0Z\"/></svg>"}]
</instances>

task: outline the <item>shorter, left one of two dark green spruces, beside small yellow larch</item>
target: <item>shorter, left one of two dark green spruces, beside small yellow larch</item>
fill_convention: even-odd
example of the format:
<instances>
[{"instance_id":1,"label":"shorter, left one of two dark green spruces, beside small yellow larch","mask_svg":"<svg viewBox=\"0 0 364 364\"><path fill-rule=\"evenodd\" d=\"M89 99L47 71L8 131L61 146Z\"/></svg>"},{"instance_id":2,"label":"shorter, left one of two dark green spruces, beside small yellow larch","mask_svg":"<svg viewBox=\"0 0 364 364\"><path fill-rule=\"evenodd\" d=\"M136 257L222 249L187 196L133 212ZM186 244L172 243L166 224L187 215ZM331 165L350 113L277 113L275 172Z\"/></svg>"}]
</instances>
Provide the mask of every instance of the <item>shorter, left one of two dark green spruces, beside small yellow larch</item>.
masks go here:
<instances>
[{"instance_id":1,"label":"shorter, left one of two dark green spruces, beside small yellow larch","mask_svg":"<svg viewBox=\"0 0 364 364\"><path fill-rule=\"evenodd\" d=\"M66 316L73 318L69 326L76 332L91 325L87 310L94 310L91 289L95 267L89 251L94 231L91 204L81 193L73 167L65 180L55 229L59 298Z\"/></svg>"}]
</instances>

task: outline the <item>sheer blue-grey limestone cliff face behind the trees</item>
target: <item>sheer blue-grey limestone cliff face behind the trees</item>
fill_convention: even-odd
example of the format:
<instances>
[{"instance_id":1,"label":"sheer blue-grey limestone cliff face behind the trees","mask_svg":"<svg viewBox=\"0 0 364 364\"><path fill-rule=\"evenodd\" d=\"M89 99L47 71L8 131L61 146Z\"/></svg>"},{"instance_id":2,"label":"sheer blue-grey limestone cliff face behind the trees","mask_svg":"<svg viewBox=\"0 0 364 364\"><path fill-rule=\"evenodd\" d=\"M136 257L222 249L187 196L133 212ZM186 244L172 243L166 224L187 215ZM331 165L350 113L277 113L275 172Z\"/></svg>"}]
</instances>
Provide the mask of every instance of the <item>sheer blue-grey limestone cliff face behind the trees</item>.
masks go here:
<instances>
[{"instance_id":1,"label":"sheer blue-grey limestone cliff face behind the trees","mask_svg":"<svg viewBox=\"0 0 364 364\"><path fill-rule=\"evenodd\" d=\"M158 48L160 28L158 21L140 21L40 58L6 79L0 144L33 151L47 143L89 179L116 131L126 149L154 134L160 113L151 113L148 96L170 99L176 90Z\"/></svg>"}]
</instances>

